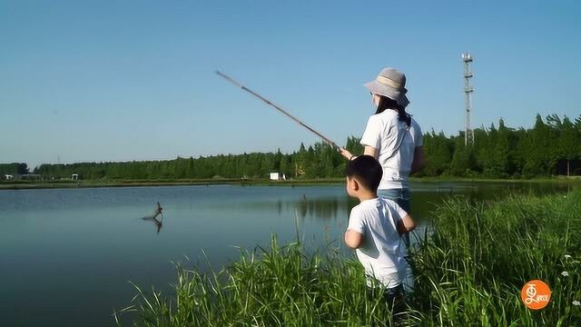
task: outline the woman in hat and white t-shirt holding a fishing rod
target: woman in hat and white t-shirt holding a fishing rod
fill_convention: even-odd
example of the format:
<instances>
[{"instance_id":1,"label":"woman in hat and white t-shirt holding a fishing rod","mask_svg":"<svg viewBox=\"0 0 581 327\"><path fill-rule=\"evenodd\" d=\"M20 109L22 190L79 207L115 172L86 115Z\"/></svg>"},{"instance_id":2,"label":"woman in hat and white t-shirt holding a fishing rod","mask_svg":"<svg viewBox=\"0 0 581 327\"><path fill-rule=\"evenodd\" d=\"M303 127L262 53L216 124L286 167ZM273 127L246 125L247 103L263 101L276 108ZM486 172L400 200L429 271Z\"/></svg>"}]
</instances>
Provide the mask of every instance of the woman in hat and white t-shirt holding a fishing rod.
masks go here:
<instances>
[{"instance_id":1,"label":"woman in hat and white t-shirt holding a fishing rod","mask_svg":"<svg viewBox=\"0 0 581 327\"><path fill-rule=\"evenodd\" d=\"M425 159L419 124L406 113L406 75L385 68L365 86L376 112L369 117L361 144L365 146L364 154L376 158L383 167L378 195L394 200L409 212L409 173L421 169ZM355 157L345 149L341 149L341 154L349 160ZM403 239L409 247L409 234Z\"/></svg>"}]
</instances>

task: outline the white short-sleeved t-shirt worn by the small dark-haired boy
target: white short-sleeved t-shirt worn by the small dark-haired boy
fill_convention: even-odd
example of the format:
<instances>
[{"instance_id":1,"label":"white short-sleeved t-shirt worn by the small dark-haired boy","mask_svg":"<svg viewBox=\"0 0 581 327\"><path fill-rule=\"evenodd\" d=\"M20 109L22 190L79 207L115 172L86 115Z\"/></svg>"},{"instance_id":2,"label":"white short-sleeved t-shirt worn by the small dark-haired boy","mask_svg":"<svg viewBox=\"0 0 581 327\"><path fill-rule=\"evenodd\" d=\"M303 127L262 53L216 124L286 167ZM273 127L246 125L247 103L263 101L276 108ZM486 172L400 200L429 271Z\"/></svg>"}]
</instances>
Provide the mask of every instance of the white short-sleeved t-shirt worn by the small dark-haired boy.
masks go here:
<instances>
[{"instance_id":1,"label":"white short-sleeved t-shirt worn by the small dark-haired boy","mask_svg":"<svg viewBox=\"0 0 581 327\"><path fill-rule=\"evenodd\" d=\"M351 209L347 230L363 234L355 251L359 262L369 277L387 288L398 286L405 279L406 245L396 226L407 214L398 203L380 197L362 201Z\"/></svg>"}]
</instances>

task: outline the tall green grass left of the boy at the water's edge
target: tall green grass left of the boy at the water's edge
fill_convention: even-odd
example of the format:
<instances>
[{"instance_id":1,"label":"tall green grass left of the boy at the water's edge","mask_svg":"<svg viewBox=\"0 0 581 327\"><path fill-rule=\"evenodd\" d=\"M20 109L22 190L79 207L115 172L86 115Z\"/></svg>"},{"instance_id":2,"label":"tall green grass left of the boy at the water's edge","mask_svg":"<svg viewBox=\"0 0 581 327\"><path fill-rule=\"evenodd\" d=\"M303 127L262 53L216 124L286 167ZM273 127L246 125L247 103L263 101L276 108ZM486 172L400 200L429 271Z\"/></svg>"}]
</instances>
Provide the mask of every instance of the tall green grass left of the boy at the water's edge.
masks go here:
<instances>
[{"instance_id":1,"label":"tall green grass left of the boy at the water's edge","mask_svg":"<svg viewBox=\"0 0 581 327\"><path fill-rule=\"evenodd\" d=\"M389 308L366 292L358 262L336 252L304 254L300 243L242 253L222 272L178 266L175 293L138 292L143 326L382 325ZM376 295L380 295L379 292Z\"/></svg>"}]
</instances>

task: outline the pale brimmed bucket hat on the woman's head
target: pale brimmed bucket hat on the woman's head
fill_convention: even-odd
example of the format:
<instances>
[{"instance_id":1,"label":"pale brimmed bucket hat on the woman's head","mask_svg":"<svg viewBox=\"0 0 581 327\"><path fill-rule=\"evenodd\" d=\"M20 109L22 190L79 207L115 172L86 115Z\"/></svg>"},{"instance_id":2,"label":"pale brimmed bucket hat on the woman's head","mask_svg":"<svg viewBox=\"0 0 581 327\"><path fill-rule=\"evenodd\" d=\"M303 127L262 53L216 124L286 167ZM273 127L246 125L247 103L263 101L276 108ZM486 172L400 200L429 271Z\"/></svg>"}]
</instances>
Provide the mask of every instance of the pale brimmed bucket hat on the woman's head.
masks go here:
<instances>
[{"instance_id":1,"label":"pale brimmed bucket hat on the woman's head","mask_svg":"<svg viewBox=\"0 0 581 327\"><path fill-rule=\"evenodd\" d=\"M395 68L382 69L374 81L364 85L371 93L387 96L404 108L409 104L406 75Z\"/></svg>"}]
</instances>

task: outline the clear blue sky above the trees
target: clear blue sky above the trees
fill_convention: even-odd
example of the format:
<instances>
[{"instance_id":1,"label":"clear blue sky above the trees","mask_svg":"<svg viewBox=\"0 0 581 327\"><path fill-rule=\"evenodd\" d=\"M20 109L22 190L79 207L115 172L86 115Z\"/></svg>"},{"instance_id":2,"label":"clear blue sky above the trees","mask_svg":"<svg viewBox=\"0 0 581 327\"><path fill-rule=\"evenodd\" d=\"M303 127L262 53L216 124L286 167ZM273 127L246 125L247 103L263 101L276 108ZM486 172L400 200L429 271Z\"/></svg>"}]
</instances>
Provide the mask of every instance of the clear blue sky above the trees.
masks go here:
<instances>
[{"instance_id":1,"label":"clear blue sky above the trees","mask_svg":"<svg viewBox=\"0 0 581 327\"><path fill-rule=\"evenodd\" d=\"M0 1L0 162L283 152L317 140L220 69L343 144L362 84L408 75L424 131L581 114L578 1Z\"/></svg>"}]
</instances>

